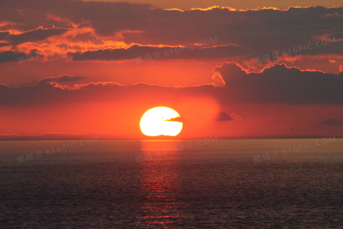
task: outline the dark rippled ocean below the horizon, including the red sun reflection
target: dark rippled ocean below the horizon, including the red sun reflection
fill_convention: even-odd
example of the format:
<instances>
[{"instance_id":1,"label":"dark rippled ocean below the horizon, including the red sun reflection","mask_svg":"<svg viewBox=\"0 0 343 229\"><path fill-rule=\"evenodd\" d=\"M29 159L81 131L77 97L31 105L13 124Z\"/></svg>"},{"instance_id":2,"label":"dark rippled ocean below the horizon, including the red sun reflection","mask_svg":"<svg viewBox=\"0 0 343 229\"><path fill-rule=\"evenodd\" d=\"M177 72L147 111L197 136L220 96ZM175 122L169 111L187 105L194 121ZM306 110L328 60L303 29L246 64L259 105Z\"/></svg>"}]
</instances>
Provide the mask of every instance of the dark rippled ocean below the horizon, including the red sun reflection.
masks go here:
<instances>
[{"instance_id":1,"label":"dark rippled ocean below the horizon, including the red sun reflection","mask_svg":"<svg viewBox=\"0 0 343 229\"><path fill-rule=\"evenodd\" d=\"M0 141L0 228L343 228L343 139L316 140Z\"/></svg>"}]
</instances>

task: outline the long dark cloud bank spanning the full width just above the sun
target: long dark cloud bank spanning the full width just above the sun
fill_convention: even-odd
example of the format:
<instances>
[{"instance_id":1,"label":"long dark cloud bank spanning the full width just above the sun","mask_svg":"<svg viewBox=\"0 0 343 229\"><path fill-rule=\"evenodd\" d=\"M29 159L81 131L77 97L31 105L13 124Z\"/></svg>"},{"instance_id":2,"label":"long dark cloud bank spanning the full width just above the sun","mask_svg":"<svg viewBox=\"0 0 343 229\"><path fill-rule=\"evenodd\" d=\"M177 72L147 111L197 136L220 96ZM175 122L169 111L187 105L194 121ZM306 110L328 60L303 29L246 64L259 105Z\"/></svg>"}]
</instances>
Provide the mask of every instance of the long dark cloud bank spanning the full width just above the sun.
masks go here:
<instances>
[{"instance_id":1,"label":"long dark cloud bank spanning the full width just above the sun","mask_svg":"<svg viewBox=\"0 0 343 229\"><path fill-rule=\"evenodd\" d=\"M187 88L160 87L144 83L122 86L117 83L92 83L75 89L62 89L56 82L71 80L69 76L48 78L34 87L12 88L0 84L0 105L46 104L85 100L175 101L189 96L215 98L222 105L232 103L335 104L343 105L343 73L328 74L300 71L275 65L262 73L246 73L235 64L225 63L215 69L225 81L224 87L202 85ZM72 78L80 79L80 78ZM96 95L96 96L95 96ZM232 118L238 115L230 114Z\"/></svg>"}]
</instances>

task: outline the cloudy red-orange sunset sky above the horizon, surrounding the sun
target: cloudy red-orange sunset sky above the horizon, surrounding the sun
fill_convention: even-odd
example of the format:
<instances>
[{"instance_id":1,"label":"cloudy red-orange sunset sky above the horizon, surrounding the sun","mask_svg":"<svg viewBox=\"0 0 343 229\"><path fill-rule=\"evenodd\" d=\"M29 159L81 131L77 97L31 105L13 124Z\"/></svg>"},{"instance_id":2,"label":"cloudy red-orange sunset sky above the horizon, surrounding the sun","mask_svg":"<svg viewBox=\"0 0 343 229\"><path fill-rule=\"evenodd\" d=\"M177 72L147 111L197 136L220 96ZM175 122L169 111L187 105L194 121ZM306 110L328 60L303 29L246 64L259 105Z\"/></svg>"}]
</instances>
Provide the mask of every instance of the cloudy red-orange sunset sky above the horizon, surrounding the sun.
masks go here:
<instances>
[{"instance_id":1,"label":"cloudy red-orange sunset sky above the horizon, surrounding the sun","mask_svg":"<svg viewBox=\"0 0 343 229\"><path fill-rule=\"evenodd\" d=\"M343 136L343 2L0 3L0 140Z\"/></svg>"}]
</instances>

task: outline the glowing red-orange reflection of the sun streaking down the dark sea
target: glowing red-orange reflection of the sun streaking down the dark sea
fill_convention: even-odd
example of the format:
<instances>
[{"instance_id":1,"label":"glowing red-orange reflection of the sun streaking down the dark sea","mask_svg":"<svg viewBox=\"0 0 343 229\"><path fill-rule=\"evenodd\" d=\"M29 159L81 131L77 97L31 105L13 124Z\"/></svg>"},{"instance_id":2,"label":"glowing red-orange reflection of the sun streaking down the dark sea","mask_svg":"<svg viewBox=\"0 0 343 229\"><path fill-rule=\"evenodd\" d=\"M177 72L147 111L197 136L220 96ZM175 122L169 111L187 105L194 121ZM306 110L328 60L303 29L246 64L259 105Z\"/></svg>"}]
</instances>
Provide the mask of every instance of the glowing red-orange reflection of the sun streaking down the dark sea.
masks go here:
<instances>
[{"instance_id":1,"label":"glowing red-orange reflection of the sun streaking down the dark sea","mask_svg":"<svg viewBox=\"0 0 343 229\"><path fill-rule=\"evenodd\" d=\"M178 154L165 155L163 148L170 142L141 141L142 154L150 152L152 159L141 162L143 203L136 226L139 228L179 228L180 204ZM161 157L154 158L153 151L160 151Z\"/></svg>"}]
</instances>

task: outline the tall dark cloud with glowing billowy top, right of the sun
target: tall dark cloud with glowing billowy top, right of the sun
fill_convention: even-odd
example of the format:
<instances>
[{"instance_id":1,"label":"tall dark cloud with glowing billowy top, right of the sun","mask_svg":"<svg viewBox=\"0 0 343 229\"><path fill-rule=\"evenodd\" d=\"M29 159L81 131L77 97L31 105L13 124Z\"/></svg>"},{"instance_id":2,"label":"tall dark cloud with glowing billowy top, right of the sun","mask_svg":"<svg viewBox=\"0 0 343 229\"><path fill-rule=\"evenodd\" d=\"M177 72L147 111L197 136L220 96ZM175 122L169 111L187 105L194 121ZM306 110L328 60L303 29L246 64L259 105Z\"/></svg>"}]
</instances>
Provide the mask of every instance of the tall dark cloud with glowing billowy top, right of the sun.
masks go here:
<instances>
[{"instance_id":1,"label":"tall dark cloud with glowing billowy top, right of the sun","mask_svg":"<svg viewBox=\"0 0 343 229\"><path fill-rule=\"evenodd\" d=\"M246 73L235 64L217 67L225 81L220 88L223 102L287 103L287 104L343 104L343 73L301 71L275 65L261 73Z\"/></svg>"}]
</instances>

